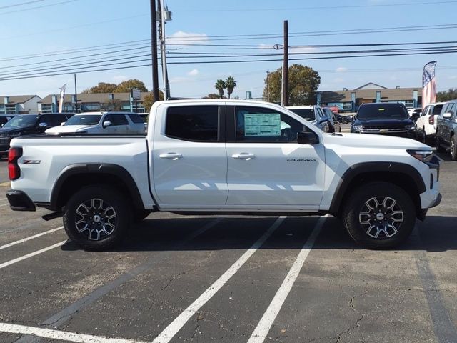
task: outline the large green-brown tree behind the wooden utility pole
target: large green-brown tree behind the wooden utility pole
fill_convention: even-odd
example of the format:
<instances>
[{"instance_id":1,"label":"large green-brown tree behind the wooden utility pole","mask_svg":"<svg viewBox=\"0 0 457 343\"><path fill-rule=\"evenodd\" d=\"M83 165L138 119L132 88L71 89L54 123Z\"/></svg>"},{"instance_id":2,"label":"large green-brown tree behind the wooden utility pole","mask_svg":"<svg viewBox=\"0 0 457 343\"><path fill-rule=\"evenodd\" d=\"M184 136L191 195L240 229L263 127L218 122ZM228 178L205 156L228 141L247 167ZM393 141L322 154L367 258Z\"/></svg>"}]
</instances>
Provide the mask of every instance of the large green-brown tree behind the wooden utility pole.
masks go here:
<instances>
[{"instance_id":1,"label":"large green-brown tree behind the wooden utility pole","mask_svg":"<svg viewBox=\"0 0 457 343\"><path fill-rule=\"evenodd\" d=\"M281 79L282 68L270 73L269 99L271 102L281 102ZM289 105L311 105L315 104L315 94L321 84L321 76L309 66L292 64L288 68ZM268 89L263 89L263 99L267 98Z\"/></svg>"}]
</instances>

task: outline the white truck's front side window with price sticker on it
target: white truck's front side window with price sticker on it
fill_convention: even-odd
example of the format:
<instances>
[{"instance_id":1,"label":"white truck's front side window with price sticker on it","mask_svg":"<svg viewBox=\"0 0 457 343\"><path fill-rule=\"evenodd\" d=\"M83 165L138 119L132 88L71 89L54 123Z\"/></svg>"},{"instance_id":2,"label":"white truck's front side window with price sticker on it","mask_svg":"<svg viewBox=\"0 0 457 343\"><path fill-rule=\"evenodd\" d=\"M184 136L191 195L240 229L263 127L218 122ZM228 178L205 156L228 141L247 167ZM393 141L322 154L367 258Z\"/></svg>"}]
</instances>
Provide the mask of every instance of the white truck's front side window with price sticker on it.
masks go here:
<instances>
[{"instance_id":1,"label":"white truck's front side window with price sticker on it","mask_svg":"<svg viewBox=\"0 0 457 343\"><path fill-rule=\"evenodd\" d=\"M237 106L236 142L296 143L306 130L299 121L281 112L261 107Z\"/></svg>"}]
</instances>

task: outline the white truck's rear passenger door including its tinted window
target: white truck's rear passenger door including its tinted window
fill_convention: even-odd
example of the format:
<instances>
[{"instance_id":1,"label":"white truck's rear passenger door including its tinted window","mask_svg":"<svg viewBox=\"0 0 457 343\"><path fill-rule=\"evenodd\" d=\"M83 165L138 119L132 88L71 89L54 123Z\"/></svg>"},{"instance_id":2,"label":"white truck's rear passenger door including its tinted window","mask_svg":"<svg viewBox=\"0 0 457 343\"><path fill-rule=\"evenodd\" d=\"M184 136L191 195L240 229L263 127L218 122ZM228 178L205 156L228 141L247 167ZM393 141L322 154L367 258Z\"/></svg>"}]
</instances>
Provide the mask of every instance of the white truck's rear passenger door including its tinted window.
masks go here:
<instances>
[{"instance_id":1,"label":"white truck's rear passenger door including its tinted window","mask_svg":"<svg viewBox=\"0 0 457 343\"><path fill-rule=\"evenodd\" d=\"M154 189L161 207L225 204L227 154L224 106L159 106L150 149Z\"/></svg>"}]
</instances>

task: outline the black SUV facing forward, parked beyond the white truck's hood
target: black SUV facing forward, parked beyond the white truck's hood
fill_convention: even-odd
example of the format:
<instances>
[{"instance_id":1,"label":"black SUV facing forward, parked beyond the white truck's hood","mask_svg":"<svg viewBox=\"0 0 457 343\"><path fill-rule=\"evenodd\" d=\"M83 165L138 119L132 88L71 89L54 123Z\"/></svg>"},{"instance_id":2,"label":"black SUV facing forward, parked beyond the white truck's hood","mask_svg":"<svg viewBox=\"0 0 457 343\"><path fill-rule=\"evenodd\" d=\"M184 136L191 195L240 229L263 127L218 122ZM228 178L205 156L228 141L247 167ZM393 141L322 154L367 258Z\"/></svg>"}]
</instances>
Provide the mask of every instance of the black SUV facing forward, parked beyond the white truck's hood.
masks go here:
<instances>
[{"instance_id":1,"label":"black SUV facing forward, parked beyond the white truck's hood","mask_svg":"<svg viewBox=\"0 0 457 343\"><path fill-rule=\"evenodd\" d=\"M363 104L358 108L351 132L413 138L415 125L403 104Z\"/></svg>"}]
</instances>

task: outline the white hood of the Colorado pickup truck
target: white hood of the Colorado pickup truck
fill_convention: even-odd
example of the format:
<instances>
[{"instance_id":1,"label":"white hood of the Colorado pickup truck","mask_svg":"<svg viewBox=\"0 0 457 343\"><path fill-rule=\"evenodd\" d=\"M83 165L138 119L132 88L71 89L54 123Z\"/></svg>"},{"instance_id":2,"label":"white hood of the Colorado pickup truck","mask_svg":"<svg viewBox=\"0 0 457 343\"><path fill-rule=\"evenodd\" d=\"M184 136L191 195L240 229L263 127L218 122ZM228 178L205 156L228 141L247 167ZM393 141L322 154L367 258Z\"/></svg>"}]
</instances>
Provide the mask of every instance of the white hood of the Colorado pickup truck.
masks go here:
<instances>
[{"instance_id":1,"label":"white hood of the Colorado pickup truck","mask_svg":"<svg viewBox=\"0 0 457 343\"><path fill-rule=\"evenodd\" d=\"M340 144L353 148L384 148L384 149L425 149L431 147L413 139L383 136L381 134L324 134L325 144Z\"/></svg>"}]
</instances>

